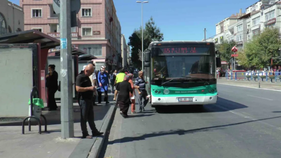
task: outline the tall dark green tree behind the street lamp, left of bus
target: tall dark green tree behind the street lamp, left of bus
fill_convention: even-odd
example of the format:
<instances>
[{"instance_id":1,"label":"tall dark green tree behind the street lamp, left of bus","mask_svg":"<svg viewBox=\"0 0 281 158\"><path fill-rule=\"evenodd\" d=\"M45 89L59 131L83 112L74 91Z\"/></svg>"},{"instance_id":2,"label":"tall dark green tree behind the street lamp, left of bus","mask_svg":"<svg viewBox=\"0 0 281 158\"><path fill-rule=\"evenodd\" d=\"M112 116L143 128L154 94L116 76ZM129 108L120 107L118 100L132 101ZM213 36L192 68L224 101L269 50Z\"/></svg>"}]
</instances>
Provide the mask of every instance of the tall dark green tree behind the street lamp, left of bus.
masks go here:
<instances>
[{"instance_id":1,"label":"tall dark green tree behind the street lamp, left of bus","mask_svg":"<svg viewBox=\"0 0 281 158\"><path fill-rule=\"evenodd\" d=\"M142 29L135 29L132 35L129 37L128 45L131 46L131 60L134 67L140 68L142 63L139 60L138 50L142 49ZM161 33L160 28L157 27L155 21L152 17L145 23L145 28L143 30L143 51L148 48L149 44L153 41L164 40L163 33Z\"/></svg>"}]
</instances>

